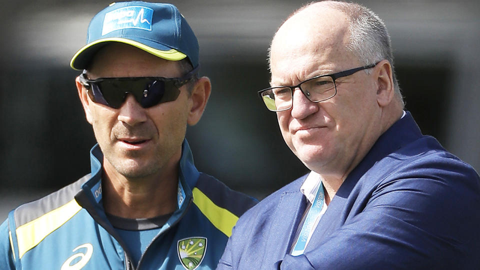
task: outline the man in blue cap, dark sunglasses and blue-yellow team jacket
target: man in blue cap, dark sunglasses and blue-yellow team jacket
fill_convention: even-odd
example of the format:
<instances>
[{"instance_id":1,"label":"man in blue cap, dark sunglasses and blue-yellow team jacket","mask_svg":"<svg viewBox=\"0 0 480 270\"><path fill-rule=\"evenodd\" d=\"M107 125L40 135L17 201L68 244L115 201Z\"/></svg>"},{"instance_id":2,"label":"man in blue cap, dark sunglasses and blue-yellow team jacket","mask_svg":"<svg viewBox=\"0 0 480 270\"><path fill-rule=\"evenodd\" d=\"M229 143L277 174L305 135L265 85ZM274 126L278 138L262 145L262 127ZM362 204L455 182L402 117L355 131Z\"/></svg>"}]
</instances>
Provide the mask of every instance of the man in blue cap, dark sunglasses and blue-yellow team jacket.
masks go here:
<instances>
[{"instance_id":1,"label":"man in blue cap, dark sunglasses and blue-yellow team jacket","mask_svg":"<svg viewBox=\"0 0 480 270\"><path fill-rule=\"evenodd\" d=\"M75 82L98 142L91 172L9 213L0 267L214 268L255 200L193 165L185 130L200 119L210 81L197 76L186 20L171 4L111 4L71 66L83 70Z\"/></svg>"}]
</instances>

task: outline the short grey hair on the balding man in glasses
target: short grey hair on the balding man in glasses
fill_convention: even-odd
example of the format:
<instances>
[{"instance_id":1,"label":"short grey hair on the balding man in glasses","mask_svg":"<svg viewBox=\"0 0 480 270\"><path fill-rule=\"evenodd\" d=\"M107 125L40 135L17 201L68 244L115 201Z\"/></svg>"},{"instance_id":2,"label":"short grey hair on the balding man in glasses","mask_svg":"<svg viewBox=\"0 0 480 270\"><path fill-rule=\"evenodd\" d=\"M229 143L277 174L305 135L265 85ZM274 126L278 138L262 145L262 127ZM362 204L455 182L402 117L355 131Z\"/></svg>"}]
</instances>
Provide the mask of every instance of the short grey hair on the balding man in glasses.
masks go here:
<instances>
[{"instance_id":1,"label":"short grey hair on the balding man in glasses","mask_svg":"<svg viewBox=\"0 0 480 270\"><path fill-rule=\"evenodd\" d=\"M295 10L288 18L314 4L309 3ZM324 3L334 9L342 11L349 20L349 43L346 49L351 51L364 65L375 64L383 59L390 62L393 77L393 87L398 100L403 103L398 80L393 67L393 53L391 48L390 35L383 20L367 7L352 3L327 0ZM287 19L288 19L287 18ZM268 50L268 62L270 63L270 49ZM366 69L365 72L369 72Z\"/></svg>"}]
</instances>

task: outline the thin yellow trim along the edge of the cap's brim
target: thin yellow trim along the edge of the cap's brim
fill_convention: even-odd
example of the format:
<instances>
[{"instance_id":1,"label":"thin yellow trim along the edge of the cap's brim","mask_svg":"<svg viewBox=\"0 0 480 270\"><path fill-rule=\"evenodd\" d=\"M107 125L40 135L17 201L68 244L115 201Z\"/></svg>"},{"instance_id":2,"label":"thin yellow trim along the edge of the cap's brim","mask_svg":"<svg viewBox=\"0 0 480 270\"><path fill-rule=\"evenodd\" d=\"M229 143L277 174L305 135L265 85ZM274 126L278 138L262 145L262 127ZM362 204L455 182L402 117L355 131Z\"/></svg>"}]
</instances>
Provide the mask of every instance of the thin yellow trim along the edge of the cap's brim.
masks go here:
<instances>
[{"instance_id":1,"label":"thin yellow trim along the edge of the cap's brim","mask_svg":"<svg viewBox=\"0 0 480 270\"><path fill-rule=\"evenodd\" d=\"M159 49L156 49L156 48L152 48L152 47L149 47L147 45L144 45L140 42L137 42L137 41L133 41L133 40L130 40L130 39L126 39L126 38L120 38L120 37L110 37L110 38L102 38L102 39L98 39L98 40L95 40L91 43L88 43L86 44L85 46L83 46L81 49L79 49L75 55L73 55L73 57L71 58L70 60L70 66L71 68L73 69L76 69L76 70L79 70L77 68L75 68L73 66L73 61L76 59L76 57L78 57L78 55L80 53L82 53L85 49L93 46L93 45L96 45L98 43L102 43L102 42L109 42L109 41L113 41L113 42L120 42L120 43L125 43L125 44L129 44L129 45L132 45L132 46L135 46L139 49L142 49L148 53L151 53L157 57L160 57L160 58L163 58L165 60L170 60L170 61L178 61L178 60L181 60L183 58L186 57L186 54L182 53L182 52L179 52L178 50L176 49L169 49L169 50L159 50Z\"/></svg>"}]
</instances>

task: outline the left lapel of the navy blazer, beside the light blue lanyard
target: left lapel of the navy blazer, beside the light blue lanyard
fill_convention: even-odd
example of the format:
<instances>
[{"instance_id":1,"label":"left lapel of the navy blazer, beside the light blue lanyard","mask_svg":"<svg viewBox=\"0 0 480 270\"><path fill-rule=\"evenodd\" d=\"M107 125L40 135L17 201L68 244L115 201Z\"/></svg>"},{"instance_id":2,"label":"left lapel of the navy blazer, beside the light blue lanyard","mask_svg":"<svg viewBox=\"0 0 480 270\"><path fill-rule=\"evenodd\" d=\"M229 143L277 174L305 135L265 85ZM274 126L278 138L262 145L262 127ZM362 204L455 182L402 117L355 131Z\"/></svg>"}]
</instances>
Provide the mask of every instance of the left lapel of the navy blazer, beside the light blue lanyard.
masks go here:
<instances>
[{"instance_id":1,"label":"left lapel of the navy blazer, beside the light blue lanyard","mask_svg":"<svg viewBox=\"0 0 480 270\"><path fill-rule=\"evenodd\" d=\"M268 231L267 245L261 265L275 265L283 260L286 253L290 251L298 223L305 211L305 196L298 190L292 192L283 192L280 201L270 220L270 229Z\"/></svg>"}]
</instances>

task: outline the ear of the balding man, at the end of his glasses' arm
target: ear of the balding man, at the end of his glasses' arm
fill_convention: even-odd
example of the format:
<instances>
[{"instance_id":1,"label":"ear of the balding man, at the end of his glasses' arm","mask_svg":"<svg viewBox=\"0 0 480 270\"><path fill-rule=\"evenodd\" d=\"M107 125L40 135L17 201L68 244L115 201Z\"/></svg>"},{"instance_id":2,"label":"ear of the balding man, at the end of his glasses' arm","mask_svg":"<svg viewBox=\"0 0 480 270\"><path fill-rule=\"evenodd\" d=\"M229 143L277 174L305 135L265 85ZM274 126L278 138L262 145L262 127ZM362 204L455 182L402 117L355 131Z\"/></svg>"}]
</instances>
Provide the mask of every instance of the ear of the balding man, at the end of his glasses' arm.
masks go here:
<instances>
[{"instance_id":1,"label":"ear of the balding man, at the end of his glasses' arm","mask_svg":"<svg viewBox=\"0 0 480 270\"><path fill-rule=\"evenodd\" d=\"M377 77L376 100L380 107L388 105L395 94L393 74L388 60L381 60L374 69Z\"/></svg>"}]
</instances>

